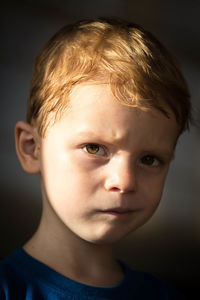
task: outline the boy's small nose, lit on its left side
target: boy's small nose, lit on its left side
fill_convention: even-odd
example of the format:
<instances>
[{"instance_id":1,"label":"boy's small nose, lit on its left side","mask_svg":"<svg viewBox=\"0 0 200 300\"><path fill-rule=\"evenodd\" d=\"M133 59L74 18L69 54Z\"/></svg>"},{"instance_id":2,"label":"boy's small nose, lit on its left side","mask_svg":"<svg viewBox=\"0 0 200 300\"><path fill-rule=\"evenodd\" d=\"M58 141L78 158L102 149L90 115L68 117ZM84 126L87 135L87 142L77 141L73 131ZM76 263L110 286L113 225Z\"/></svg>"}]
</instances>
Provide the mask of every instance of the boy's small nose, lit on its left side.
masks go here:
<instances>
[{"instance_id":1,"label":"boy's small nose, lit on its left side","mask_svg":"<svg viewBox=\"0 0 200 300\"><path fill-rule=\"evenodd\" d=\"M121 194L137 190L136 168L130 158L115 158L109 163L105 189Z\"/></svg>"}]
</instances>

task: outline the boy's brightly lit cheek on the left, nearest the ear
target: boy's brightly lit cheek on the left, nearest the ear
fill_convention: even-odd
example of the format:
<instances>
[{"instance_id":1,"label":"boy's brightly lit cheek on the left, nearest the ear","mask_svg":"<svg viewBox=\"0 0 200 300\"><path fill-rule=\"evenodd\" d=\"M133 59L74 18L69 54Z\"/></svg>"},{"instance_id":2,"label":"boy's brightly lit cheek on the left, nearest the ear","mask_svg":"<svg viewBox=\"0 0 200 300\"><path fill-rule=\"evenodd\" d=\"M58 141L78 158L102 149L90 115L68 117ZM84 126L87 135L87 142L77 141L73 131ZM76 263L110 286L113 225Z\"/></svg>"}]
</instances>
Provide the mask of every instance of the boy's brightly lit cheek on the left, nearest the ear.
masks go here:
<instances>
[{"instance_id":1,"label":"boy's brightly lit cheek on the left, nearest the ear","mask_svg":"<svg viewBox=\"0 0 200 300\"><path fill-rule=\"evenodd\" d=\"M91 170L85 168L76 156L72 158L59 149L43 151L41 166L42 180L50 201L63 203L73 198L73 203L76 203L80 197L89 197L97 190L97 176L92 176Z\"/></svg>"}]
</instances>

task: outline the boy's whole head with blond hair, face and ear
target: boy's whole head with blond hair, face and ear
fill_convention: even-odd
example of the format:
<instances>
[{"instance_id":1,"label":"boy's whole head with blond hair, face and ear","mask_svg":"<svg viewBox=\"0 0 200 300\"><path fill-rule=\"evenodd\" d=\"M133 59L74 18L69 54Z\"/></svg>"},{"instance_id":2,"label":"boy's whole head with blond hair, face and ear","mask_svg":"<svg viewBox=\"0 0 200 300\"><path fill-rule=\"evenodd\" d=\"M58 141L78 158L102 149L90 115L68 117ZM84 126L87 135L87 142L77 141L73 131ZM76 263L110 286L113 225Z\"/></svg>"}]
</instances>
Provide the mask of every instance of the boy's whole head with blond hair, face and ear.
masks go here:
<instances>
[{"instance_id":1,"label":"boy's whole head with blond hair, face and ear","mask_svg":"<svg viewBox=\"0 0 200 300\"><path fill-rule=\"evenodd\" d=\"M149 33L114 21L61 29L37 59L29 124L16 126L23 168L41 175L43 228L110 243L144 224L189 120L184 79Z\"/></svg>"}]
</instances>

